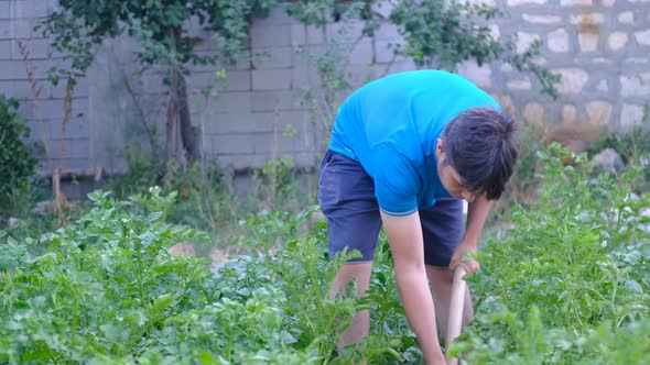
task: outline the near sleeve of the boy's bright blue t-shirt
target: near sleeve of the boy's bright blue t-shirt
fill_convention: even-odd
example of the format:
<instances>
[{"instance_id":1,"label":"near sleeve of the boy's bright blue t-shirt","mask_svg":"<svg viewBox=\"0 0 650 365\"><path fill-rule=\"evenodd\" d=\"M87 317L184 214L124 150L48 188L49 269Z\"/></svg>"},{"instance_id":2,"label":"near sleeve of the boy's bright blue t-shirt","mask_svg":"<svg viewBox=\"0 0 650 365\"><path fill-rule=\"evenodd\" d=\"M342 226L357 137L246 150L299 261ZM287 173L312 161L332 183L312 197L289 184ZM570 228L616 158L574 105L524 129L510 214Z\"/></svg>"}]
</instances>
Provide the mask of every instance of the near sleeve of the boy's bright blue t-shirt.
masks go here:
<instances>
[{"instance_id":1,"label":"near sleeve of the boy's bright blue t-shirt","mask_svg":"<svg viewBox=\"0 0 650 365\"><path fill-rule=\"evenodd\" d=\"M412 162L388 143L372 148L375 195L389 215L409 215L418 210L422 180Z\"/></svg>"}]
</instances>

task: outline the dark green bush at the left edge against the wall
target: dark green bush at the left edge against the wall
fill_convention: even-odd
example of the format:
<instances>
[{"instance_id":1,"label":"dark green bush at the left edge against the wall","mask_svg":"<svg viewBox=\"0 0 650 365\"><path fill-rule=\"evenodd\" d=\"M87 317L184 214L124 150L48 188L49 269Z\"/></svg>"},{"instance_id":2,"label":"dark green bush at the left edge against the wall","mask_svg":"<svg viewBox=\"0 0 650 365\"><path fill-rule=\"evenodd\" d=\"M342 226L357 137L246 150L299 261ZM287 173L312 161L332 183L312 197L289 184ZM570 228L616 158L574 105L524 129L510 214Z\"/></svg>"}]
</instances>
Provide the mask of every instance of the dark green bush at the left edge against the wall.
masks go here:
<instances>
[{"instance_id":1,"label":"dark green bush at the left edge against the wall","mask_svg":"<svg viewBox=\"0 0 650 365\"><path fill-rule=\"evenodd\" d=\"M18 114L18 101L0 93L0 204L25 189L35 173L36 161L25 144L29 136L26 121Z\"/></svg>"}]
</instances>

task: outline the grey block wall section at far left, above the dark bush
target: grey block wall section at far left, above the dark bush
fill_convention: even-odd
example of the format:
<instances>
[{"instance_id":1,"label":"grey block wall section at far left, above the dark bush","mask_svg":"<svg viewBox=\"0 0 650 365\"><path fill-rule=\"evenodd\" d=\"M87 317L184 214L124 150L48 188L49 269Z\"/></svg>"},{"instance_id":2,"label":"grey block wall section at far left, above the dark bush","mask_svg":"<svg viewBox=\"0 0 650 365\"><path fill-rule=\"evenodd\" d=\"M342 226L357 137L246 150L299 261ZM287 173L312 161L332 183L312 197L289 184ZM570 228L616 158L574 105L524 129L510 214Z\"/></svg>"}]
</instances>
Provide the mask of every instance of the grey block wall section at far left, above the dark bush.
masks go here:
<instances>
[{"instance_id":1,"label":"grey block wall section at far left, above the dark bush","mask_svg":"<svg viewBox=\"0 0 650 365\"><path fill-rule=\"evenodd\" d=\"M51 168L48 154L52 166L83 172L94 163L88 82L80 80L76 88L72 118L64 130L65 89L46 80L47 70L61 64L62 55L34 30L54 5L50 0L0 0L0 92L21 101L19 111L29 120L34 152L44 170Z\"/></svg>"}]
</instances>

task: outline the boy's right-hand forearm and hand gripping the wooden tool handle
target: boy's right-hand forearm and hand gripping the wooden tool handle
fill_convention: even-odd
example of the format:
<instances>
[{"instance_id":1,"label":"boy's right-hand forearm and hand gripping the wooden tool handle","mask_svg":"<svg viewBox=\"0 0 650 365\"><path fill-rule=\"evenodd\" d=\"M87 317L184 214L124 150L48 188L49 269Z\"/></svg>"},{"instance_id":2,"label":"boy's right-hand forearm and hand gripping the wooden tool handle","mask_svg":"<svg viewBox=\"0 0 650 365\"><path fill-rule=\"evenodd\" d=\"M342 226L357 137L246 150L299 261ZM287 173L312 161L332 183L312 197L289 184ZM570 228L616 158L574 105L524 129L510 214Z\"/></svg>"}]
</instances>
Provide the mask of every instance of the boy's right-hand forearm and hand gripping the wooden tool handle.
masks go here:
<instances>
[{"instance_id":1,"label":"boy's right-hand forearm and hand gripping the wooden tool handle","mask_svg":"<svg viewBox=\"0 0 650 365\"><path fill-rule=\"evenodd\" d=\"M454 252L454 256L452 256L452 263L449 264L451 270L454 270L463 261L463 255L466 252L476 253L478 251L483 228L494 204L495 201L487 200L485 193L477 196L473 202L468 203L465 235L463 236L463 241L461 241L461 245ZM478 263L474 259L466 261L465 266L469 274L478 270Z\"/></svg>"}]
</instances>

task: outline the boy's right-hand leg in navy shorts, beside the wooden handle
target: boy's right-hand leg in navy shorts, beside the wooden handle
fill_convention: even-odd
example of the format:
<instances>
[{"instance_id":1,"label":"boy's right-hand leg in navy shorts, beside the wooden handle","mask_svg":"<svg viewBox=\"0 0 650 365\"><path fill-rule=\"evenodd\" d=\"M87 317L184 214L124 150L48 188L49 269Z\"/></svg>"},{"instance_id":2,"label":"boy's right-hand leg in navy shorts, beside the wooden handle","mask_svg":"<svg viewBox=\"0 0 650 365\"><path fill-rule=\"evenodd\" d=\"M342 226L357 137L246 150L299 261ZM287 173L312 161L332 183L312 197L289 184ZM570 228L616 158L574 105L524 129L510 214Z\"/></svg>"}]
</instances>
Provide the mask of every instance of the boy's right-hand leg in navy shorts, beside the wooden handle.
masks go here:
<instances>
[{"instance_id":1,"label":"boy's right-hand leg in navy shorts, beside the wooden handle","mask_svg":"<svg viewBox=\"0 0 650 365\"><path fill-rule=\"evenodd\" d=\"M421 210L420 219L424 235L424 261L433 294L437 328L442 336L447 333L449 302L454 273L449 270L452 255L461 244L465 232L463 200L440 199L431 209ZM474 318L469 289L465 292L463 325Z\"/></svg>"}]
</instances>

